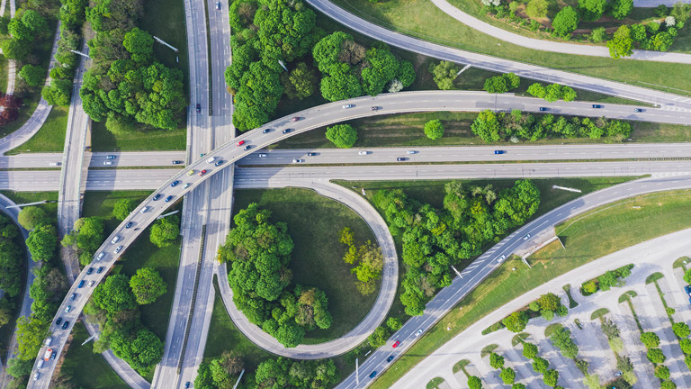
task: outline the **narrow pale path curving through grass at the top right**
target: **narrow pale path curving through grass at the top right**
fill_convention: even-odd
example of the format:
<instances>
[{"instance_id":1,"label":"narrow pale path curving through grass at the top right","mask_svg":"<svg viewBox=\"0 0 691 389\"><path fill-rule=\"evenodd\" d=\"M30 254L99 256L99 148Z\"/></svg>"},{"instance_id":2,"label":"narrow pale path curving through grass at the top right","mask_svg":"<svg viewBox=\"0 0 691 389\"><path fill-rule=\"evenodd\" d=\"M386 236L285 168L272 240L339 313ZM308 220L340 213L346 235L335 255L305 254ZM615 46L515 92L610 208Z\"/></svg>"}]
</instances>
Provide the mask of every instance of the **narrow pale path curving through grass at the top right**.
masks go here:
<instances>
[{"instance_id":1,"label":"narrow pale path curving through grass at the top right","mask_svg":"<svg viewBox=\"0 0 691 389\"><path fill-rule=\"evenodd\" d=\"M460 9L449 4L446 0L432 0L432 4L436 5L437 8L442 10L444 14L448 14L449 16L453 17L453 19L472 27L479 32L486 33L494 38L497 38L498 40L507 41L517 46L533 50L558 52L561 54L579 54L591 57L611 58L609 55L609 49L607 49L605 46L566 43L562 41L544 41L528 38L524 35L509 32L503 28L482 22L480 19L462 12ZM664 51L633 50L632 56L624 57L624 59L691 64L691 54Z\"/></svg>"}]
</instances>

